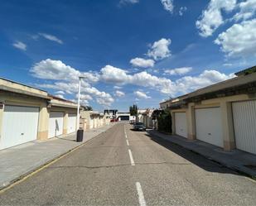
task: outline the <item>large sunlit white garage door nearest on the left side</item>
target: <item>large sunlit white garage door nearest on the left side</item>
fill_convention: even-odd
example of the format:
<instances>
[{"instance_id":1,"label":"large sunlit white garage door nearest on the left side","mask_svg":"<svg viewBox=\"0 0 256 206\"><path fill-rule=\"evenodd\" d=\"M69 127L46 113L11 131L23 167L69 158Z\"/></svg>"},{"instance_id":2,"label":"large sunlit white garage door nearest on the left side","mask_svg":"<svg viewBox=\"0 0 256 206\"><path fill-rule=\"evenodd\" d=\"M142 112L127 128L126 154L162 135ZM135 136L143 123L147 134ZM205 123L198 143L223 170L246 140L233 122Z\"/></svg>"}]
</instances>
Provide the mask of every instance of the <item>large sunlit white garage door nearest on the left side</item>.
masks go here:
<instances>
[{"instance_id":1,"label":"large sunlit white garage door nearest on the left side","mask_svg":"<svg viewBox=\"0 0 256 206\"><path fill-rule=\"evenodd\" d=\"M5 105L0 149L36 140L39 108Z\"/></svg>"}]
</instances>

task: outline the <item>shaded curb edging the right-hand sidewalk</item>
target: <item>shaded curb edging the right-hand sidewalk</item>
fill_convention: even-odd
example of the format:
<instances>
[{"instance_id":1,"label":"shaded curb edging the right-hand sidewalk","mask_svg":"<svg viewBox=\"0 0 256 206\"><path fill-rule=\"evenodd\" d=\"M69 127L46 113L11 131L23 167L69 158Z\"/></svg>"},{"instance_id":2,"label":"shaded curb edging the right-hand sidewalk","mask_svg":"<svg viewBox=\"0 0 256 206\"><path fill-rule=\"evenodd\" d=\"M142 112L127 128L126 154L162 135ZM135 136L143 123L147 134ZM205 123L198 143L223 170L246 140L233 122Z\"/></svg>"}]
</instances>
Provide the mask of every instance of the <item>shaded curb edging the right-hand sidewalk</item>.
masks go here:
<instances>
[{"instance_id":1,"label":"shaded curb edging the right-hand sidewalk","mask_svg":"<svg viewBox=\"0 0 256 206\"><path fill-rule=\"evenodd\" d=\"M161 137L161 135L157 134L157 133L152 133L152 135L155 135L156 137L159 137L161 138L162 140L164 141L168 141L168 142L171 142L173 144L175 144L176 146L181 146L182 148L188 150L188 151L192 151L193 153L196 153L197 155L200 155L200 156L204 156L207 160L210 160L210 161L213 161L219 165L222 165L222 166L225 166L226 168L229 168L230 170L234 170L235 172L241 174L241 175L246 175L247 177L253 179L253 180L256 180L256 175L252 175L251 172L249 172L247 168L244 167L241 168L239 166L236 166L236 165L229 165L229 164L226 164L225 162L222 162L220 160L217 160L211 156L206 156L205 154L201 153L200 151L196 151L196 150L193 150L191 148L188 148L186 146L182 146L180 145L179 143L176 143L174 141L171 141L170 139L167 139L167 137Z\"/></svg>"}]
</instances>

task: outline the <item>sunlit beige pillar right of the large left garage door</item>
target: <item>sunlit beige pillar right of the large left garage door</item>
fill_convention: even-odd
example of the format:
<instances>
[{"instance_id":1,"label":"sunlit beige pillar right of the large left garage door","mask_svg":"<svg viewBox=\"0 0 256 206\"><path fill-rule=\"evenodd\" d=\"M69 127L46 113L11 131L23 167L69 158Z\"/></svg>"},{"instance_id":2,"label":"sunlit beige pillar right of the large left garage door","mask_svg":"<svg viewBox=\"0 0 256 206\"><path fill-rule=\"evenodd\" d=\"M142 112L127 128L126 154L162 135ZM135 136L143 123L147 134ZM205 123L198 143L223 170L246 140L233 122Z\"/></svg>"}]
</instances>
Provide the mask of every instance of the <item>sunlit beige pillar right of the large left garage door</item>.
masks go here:
<instances>
[{"instance_id":1,"label":"sunlit beige pillar right of the large left garage door","mask_svg":"<svg viewBox=\"0 0 256 206\"><path fill-rule=\"evenodd\" d=\"M47 140L48 139L48 128L49 128L49 118L50 112L46 107L46 103L42 103L39 112L39 121L38 121L38 140Z\"/></svg>"}]
</instances>

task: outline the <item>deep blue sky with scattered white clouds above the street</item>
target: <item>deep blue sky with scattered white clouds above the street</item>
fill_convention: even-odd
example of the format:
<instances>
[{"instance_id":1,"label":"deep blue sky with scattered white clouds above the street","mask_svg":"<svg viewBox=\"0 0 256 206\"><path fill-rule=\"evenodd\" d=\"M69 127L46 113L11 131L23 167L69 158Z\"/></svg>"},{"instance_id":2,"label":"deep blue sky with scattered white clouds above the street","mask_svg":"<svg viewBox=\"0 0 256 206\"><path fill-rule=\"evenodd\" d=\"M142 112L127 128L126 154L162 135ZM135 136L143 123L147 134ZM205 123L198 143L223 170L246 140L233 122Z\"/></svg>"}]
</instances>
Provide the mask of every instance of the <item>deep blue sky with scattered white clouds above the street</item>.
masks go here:
<instances>
[{"instance_id":1,"label":"deep blue sky with scattered white clouds above the street","mask_svg":"<svg viewBox=\"0 0 256 206\"><path fill-rule=\"evenodd\" d=\"M159 103L256 65L256 0L0 0L0 76L94 110Z\"/></svg>"}]
</instances>

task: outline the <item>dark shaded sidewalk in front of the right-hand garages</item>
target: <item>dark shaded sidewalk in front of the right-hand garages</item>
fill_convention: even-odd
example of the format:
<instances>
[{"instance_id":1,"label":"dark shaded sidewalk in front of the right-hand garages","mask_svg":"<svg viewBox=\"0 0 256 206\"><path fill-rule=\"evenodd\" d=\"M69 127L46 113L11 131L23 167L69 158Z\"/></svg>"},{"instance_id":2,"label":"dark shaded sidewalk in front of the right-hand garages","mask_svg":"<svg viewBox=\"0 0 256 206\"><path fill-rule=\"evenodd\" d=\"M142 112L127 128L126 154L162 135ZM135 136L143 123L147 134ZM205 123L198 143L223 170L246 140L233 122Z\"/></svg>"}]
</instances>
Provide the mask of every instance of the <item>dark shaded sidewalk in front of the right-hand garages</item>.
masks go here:
<instances>
[{"instance_id":1,"label":"dark shaded sidewalk in front of the right-hand garages","mask_svg":"<svg viewBox=\"0 0 256 206\"><path fill-rule=\"evenodd\" d=\"M190 151L196 152L207 159L214 160L231 170L238 171L256 179L256 156L248 152L233 150L223 151L218 146L210 145L204 141L190 141L184 137L166 135L155 130L148 131L150 136L160 137L166 141L182 146Z\"/></svg>"}]
</instances>

